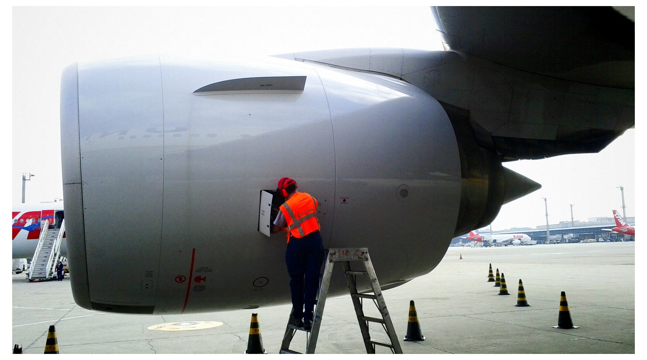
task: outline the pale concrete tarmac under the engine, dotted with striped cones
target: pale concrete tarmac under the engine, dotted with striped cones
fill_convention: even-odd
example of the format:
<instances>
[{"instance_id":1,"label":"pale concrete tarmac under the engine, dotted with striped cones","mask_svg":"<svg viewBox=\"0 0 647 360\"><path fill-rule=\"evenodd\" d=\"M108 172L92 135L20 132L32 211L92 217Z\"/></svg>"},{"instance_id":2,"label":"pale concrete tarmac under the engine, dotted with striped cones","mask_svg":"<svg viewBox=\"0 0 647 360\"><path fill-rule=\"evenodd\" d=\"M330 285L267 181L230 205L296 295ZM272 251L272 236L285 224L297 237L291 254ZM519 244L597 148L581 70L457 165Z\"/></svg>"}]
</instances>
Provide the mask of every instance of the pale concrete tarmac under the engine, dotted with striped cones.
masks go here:
<instances>
[{"instance_id":1,"label":"pale concrete tarmac under the engine, dotted with striped cones","mask_svg":"<svg viewBox=\"0 0 647 360\"><path fill-rule=\"evenodd\" d=\"M494 273L498 268L505 274L510 295L498 295L499 288L487 281L490 263ZM405 354L633 354L634 269L635 242L453 247L435 270L384 291L384 299ZM291 310L285 305L164 316L94 312L74 303L69 276L63 282L27 282L24 273L12 275L12 341L23 353L43 354L53 324L61 354L243 354L256 312L263 346L276 354ZM514 306L519 279L531 306ZM580 328L553 328L560 291ZM410 300L425 341L402 341ZM364 308L368 316L378 314L370 302ZM197 321L223 324L148 330ZM386 339L379 324L371 324L371 335ZM305 333L297 332L291 349L305 351ZM350 296L326 301L316 352L366 354ZM378 346L377 352L389 350Z\"/></svg>"}]
</instances>

